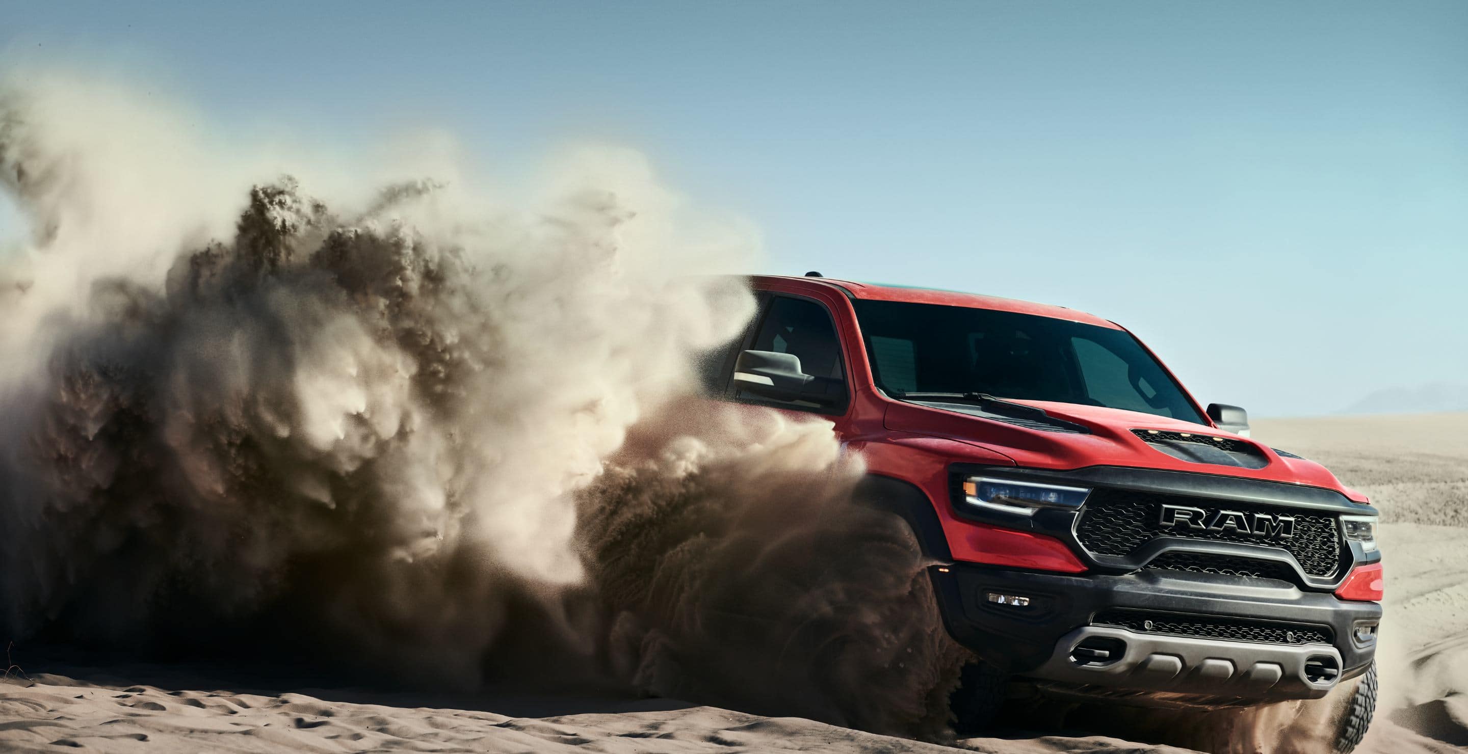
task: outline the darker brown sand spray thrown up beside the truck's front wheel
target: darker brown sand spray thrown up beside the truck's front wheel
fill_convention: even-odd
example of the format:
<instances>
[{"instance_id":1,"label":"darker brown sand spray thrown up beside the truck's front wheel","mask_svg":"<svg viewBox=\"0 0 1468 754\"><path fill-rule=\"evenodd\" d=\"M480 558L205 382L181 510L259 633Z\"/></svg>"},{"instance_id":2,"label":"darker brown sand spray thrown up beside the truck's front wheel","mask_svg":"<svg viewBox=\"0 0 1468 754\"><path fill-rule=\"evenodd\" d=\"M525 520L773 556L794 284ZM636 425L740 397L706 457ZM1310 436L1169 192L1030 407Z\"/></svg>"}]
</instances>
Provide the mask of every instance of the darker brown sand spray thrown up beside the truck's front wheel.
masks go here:
<instances>
[{"instance_id":1,"label":"darker brown sand spray thrown up beside the truck's front wheel","mask_svg":"<svg viewBox=\"0 0 1468 754\"><path fill-rule=\"evenodd\" d=\"M941 736L967 653L906 524L851 505L860 459L825 422L672 414L634 430L589 497L614 665L662 695Z\"/></svg>"}]
</instances>

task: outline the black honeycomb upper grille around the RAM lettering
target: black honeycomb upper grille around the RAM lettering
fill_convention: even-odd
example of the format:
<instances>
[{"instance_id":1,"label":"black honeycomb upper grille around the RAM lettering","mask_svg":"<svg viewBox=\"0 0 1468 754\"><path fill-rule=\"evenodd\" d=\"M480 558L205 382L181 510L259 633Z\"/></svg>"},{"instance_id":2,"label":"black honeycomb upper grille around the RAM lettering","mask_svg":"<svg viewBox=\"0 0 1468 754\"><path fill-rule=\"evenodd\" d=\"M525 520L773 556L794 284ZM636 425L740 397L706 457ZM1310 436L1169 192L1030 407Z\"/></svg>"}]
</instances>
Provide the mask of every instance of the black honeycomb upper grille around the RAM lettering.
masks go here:
<instances>
[{"instance_id":1,"label":"black honeycomb upper grille around the RAM lettering","mask_svg":"<svg viewBox=\"0 0 1468 754\"><path fill-rule=\"evenodd\" d=\"M1158 525L1158 516L1164 503L1202 508L1210 515L1226 509L1239 510L1246 516L1252 516L1254 513L1295 516L1295 535L1271 540L1236 530L1213 531L1191 527L1170 527L1164 530ZM1086 499L1086 505L1080 512L1080 521L1076 524L1076 538L1080 540L1080 544L1086 550L1095 554L1126 557L1157 537L1280 547L1293 554L1299 560L1301 568L1312 577L1331 577L1340 568L1340 530L1336 516L1311 513L1299 508L1249 505L1208 497L1098 487Z\"/></svg>"}]
</instances>

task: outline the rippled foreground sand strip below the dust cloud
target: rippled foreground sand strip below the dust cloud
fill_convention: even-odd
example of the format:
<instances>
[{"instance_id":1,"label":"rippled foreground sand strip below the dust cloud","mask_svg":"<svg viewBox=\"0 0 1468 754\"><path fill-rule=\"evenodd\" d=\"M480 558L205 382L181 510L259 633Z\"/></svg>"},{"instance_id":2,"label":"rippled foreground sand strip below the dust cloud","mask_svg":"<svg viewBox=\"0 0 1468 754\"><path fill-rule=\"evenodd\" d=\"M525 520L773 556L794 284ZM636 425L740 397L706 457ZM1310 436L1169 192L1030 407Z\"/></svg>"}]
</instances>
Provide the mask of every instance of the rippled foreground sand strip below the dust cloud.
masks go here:
<instances>
[{"instance_id":1,"label":"rippled foreground sand strip below the dust cloud","mask_svg":"<svg viewBox=\"0 0 1468 754\"><path fill-rule=\"evenodd\" d=\"M468 709L423 706L408 694L342 689L211 689L169 669L131 667L163 685L107 684L109 670L43 673L0 692L0 750L65 751L884 751L950 747L794 717L760 717L666 700L480 697ZM175 670L176 672L176 670ZM79 681L73 676L92 676ZM117 679L120 681L120 679ZM195 688L172 688L192 685ZM376 698L377 703L345 701ZM562 713L568 709L615 711ZM514 709L520 714L487 711ZM1182 751L1110 738L966 741L986 753ZM62 747L62 748L57 748Z\"/></svg>"}]
</instances>

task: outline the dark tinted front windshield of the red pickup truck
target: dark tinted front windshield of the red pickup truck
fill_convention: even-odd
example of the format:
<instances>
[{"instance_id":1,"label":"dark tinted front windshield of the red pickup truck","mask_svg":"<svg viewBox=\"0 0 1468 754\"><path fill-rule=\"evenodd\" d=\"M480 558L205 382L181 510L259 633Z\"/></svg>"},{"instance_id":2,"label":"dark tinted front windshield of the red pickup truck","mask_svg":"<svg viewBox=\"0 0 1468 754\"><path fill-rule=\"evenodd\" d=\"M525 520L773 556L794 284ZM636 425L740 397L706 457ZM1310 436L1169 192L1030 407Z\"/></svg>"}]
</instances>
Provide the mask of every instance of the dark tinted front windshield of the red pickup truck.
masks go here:
<instances>
[{"instance_id":1,"label":"dark tinted front windshield of the red pickup truck","mask_svg":"<svg viewBox=\"0 0 1468 754\"><path fill-rule=\"evenodd\" d=\"M938 304L853 304L876 384L894 398L986 393L1207 424L1126 330Z\"/></svg>"}]
</instances>

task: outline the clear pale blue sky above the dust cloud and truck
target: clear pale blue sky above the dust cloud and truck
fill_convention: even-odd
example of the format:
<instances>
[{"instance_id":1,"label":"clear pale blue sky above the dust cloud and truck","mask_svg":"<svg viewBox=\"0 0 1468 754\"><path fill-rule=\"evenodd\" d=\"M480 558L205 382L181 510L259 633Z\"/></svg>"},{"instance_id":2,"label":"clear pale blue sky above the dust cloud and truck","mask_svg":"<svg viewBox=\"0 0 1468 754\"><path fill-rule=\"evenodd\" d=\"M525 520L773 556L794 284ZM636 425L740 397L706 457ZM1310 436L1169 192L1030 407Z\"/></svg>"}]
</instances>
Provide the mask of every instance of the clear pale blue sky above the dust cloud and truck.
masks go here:
<instances>
[{"instance_id":1,"label":"clear pale blue sky above the dust cloud and truck","mask_svg":"<svg viewBox=\"0 0 1468 754\"><path fill-rule=\"evenodd\" d=\"M1088 310L1204 402L1468 381L1462 0L0 0L6 47L305 142L628 144L772 271Z\"/></svg>"}]
</instances>

